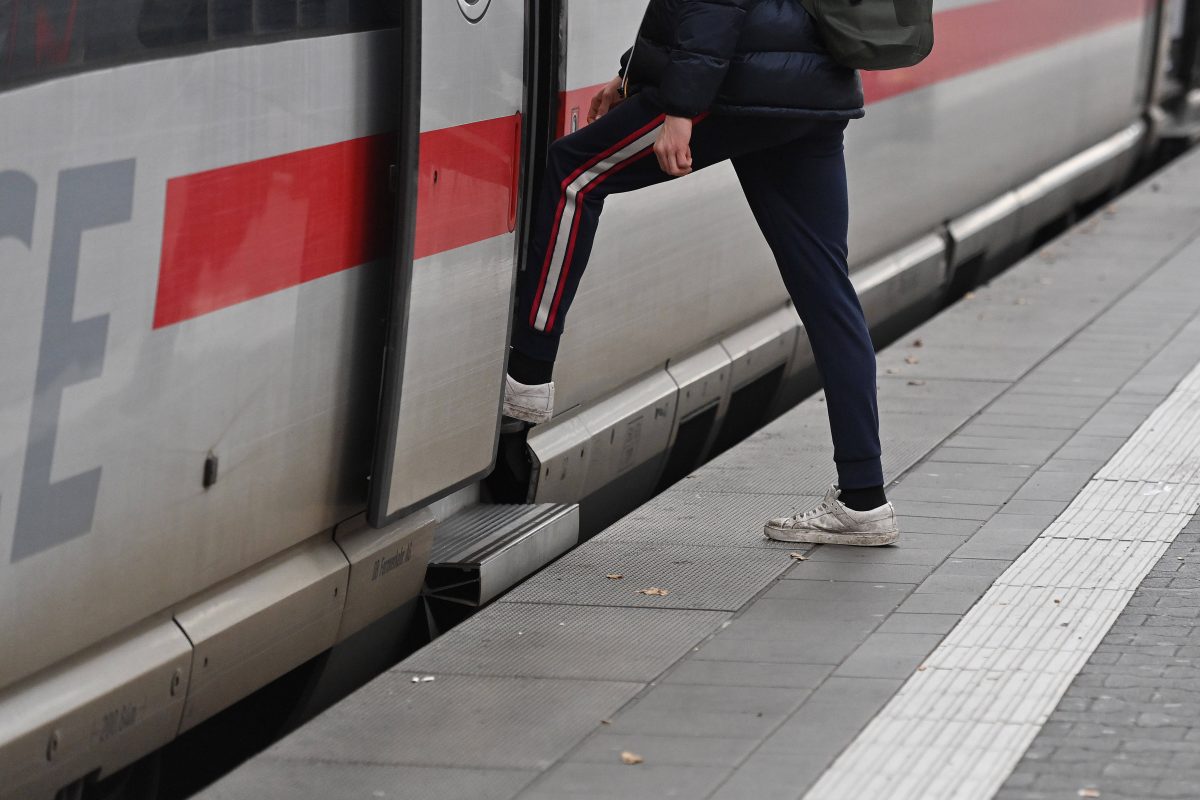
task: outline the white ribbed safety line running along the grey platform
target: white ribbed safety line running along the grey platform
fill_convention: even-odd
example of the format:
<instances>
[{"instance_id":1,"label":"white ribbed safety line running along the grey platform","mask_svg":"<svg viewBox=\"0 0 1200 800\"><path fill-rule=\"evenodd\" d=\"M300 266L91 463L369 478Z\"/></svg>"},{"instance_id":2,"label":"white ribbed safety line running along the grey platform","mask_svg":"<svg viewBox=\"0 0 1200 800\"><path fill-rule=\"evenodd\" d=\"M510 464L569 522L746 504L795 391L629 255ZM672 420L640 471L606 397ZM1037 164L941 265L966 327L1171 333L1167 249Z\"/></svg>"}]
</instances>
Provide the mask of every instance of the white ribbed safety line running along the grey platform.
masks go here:
<instances>
[{"instance_id":1,"label":"white ribbed safety line running along the grey platform","mask_svg":"<svg viewBox=\"0 0 1200 800\"><path fill-rule=\"evenodd\" d=\"M994 796L1198 504L1200 367L996 581L806 800Z\"/></svg>"}]
</instances>

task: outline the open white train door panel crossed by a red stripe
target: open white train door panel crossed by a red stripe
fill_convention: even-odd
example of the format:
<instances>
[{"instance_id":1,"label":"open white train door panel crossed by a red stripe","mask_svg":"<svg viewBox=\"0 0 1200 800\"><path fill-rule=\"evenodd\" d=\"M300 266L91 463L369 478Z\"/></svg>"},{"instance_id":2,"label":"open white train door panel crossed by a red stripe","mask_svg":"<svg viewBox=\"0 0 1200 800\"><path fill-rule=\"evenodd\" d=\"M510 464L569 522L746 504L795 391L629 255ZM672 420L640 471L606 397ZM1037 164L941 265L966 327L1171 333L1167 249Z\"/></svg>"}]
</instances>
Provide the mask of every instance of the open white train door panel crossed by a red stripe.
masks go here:
<instances>
[{"instance_id":1,"label":"open white train door panel crossed by a red stripe","mask_svg":"<svg viewBox=\"0 0 1200 800\"><path fill-rule=\"evenodd\" d=\"M368 519L488 471L512 315L526 0L408 0L395 272Z\"/></svg>"}]
</instances>

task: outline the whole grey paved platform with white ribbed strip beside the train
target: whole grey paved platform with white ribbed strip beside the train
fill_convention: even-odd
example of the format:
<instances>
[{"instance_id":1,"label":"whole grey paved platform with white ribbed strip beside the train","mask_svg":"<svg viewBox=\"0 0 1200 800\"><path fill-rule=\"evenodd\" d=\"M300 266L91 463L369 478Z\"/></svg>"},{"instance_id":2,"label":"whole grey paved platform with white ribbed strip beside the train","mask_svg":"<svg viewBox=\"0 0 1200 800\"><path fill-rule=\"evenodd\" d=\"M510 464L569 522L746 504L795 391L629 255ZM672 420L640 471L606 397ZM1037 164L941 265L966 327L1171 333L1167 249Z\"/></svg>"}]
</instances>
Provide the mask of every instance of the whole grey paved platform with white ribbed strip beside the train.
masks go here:
<instances>
[{"instance_id":1,"label":"whole grey paved platform with white ribbed strip beside the train","mask_svg":"<svg viewBox=\"0 0 1200 800\"><path fill-rule=\"evenodd\" d=\"M1200 152L881 353L899 546L812 397L200 796L1195 798L1198 313Z\"/></svg>"}]
</instances>

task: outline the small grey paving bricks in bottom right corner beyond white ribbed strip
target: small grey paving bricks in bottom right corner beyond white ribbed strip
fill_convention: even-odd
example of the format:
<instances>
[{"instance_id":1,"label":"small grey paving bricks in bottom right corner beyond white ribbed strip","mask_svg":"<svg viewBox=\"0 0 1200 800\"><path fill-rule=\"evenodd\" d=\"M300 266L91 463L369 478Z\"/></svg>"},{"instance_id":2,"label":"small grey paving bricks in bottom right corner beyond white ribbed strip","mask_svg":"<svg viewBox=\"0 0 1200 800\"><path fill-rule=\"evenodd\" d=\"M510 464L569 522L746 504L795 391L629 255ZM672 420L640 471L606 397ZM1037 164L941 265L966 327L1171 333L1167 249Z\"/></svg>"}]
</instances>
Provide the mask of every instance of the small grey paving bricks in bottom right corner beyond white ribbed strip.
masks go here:
<instances>
[{"instance_id":1,"label":"small grey paving bricks in bottom right corner beyond white ribbed strip","mask_svg":"<svg viewBox=\"0 0 1200 800\"><path fill-rule=\"evenodd\" d=\"M1200 787L1200 515L1138 588L996 795L1195 798ZM1091 789L1091 792L1080 792Z\"/></svg>"}]
</instances>

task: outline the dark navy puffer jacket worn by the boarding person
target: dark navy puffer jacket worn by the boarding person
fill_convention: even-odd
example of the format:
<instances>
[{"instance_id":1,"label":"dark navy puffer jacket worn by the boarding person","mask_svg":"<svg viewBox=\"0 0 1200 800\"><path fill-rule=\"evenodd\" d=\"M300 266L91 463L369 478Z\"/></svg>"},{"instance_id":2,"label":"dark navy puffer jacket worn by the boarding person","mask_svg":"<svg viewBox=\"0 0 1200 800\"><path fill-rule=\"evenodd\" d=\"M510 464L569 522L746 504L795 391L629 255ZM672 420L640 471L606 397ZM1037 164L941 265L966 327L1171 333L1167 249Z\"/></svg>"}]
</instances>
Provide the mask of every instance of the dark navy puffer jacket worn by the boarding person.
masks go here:
<instances>
[{"instance_id":1,"label":"dark navy puffer jacket worn by the boarding person","mask_svg":"<svg viewBox=\"0 0 1200 800\"><path fill-rule=\"evenodd\" d=\"M677 116L863 115L858 73L829 58L800 0L650 0L626 71Z\"/></svg>"}]
</instances>

